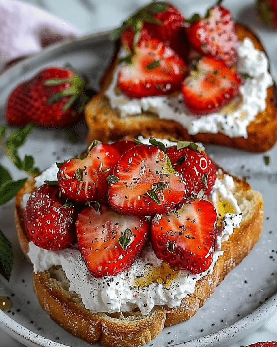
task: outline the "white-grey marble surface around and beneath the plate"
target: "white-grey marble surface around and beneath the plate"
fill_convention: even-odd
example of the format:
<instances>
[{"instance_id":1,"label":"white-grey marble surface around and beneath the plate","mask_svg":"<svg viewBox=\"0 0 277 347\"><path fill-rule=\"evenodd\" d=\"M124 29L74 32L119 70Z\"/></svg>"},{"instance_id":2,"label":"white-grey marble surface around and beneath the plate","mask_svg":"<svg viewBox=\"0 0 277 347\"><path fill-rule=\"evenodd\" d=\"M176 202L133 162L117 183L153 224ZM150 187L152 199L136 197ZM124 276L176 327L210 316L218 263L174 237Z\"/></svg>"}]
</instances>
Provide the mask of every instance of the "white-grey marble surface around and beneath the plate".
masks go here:
<instances>
[{"instance_id":1,"label":"white-grey marble surface around and beneath the plate","mask_svg":"<svg viewBox=\"0 0 277 347\"><path fill-rule=\"evenodd\" d=\"M51 13L67 20L72 25L79 29L81 35L88 33L106 31L118 26L135 8L144 5L145 0L25 0L38 7L46 9ZM173 2L173 1L172 1ZM191 15L198 8L203 8L203 5L210 6L213 1L189 1L189 0L175 0L174 3L185 14ZM242 19L243 22L248 22L252 27L258 28L264 38L264 45L268 51L271 71L275 80L277 79L277 46L270 46L268 38L274 37L276 32L270 31L263 27L256 20L253 1L241 1L243 10L240 11L235 6L232 0L226 0L224 5L229 7L234 17ZM200 6L200 7L199 7ZM235 342L231 347L246 346L257 341L277 341L277 310L274 316L268 319L257 331L251 333L242 340ZM24 345L15 341L6 332L0 329L1 346L5 347L22 347Z\"/></svg>"}]
</instances>

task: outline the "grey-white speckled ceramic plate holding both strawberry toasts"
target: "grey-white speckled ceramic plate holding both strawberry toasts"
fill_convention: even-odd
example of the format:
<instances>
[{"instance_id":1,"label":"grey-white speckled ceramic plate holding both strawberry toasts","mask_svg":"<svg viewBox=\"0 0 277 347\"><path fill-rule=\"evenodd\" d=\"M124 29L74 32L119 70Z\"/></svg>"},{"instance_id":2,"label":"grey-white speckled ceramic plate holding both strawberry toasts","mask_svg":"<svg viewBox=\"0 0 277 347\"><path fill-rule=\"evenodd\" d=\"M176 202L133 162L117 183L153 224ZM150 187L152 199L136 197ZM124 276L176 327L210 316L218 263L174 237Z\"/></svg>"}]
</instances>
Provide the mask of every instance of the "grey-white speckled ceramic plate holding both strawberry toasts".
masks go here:
<instances>
[{"instance_id":1,"label":"grey-white speckled ceramic plate holding both strawberry toasts","mask_svg":"<svg viewBox=\"0 0 277 347\"><path fill-rule=\"evenodd\" d=\"M229 6L230 5L230 6ZM248 23L245 9L239 1L226 1L226 6L242 22L256 26L263 38L270 59L274 61L274 40L256 23ZM250 11L250 12L249 12ZM248 13L251 15L251 11ZM253 13L252 17L253 18ZM276 34L275 34L276 35ZM90 78L91 85L105 70L112 53L107 34L97 34L69 43L57 44L41 54L25 60L0 76L0 121L3 124L5 100L11 89L20 81L34 75L45 66L71 64ZM276 62L275 62L276 64ZM276 70L272 70L275 75ZM276 75L275 75L276 76ZM80 121L74 126L78 134L76 144L71 144L66 135L68 129L36 128L29 136L20 153L33 154L40 169L53 161L61 161L82 151L85 147L86 125ZM223 147L207 146L207 152L224 168L240 176L248 176L254 189L258 189L265 200L265 223L262 236L251 253L231 271L218 286L212 297L189 321L165 328L146 346L215 346L228 345L258 328L263 320L276 312L277 301L277 147L269 151L270 165L266 166L265 154L252 154ZM1 153L0 162L12 172L15 179L24 177L16 171ZM10 310L0 311L1 327L11 336L27 346L89 346L73 337L54 323L39 306L32 286L32 266L22 254L16 238L14 202L0 209L0 226L12 241L15 264L10 282L0 278L0 296L11 299ZM95 346L100 346L95 344Z\"/></svg>"}]
</instances>

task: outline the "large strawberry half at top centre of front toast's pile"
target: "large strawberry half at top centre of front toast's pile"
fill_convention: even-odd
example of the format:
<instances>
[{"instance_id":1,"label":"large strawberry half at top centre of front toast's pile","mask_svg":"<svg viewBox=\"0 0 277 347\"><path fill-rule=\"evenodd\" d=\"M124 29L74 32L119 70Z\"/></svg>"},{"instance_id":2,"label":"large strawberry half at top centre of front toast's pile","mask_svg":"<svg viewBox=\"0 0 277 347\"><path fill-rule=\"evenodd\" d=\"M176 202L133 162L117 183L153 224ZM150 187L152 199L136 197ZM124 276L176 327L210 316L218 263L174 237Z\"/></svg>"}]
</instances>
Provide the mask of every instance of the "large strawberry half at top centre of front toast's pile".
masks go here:
<instances>
[{"instance_id":1,"label":"large strawberry half at top centre of front toast's pile","mask_svg":"<svg viewBox=\"0 0 277 347\"><path fill-rule=\"evenodd\" d=\"M180 202L185 192L181 174L153 145L138 145L125 152L108 180L109 204L123 214L164 213Z\"/></svg>"}]
</instances>

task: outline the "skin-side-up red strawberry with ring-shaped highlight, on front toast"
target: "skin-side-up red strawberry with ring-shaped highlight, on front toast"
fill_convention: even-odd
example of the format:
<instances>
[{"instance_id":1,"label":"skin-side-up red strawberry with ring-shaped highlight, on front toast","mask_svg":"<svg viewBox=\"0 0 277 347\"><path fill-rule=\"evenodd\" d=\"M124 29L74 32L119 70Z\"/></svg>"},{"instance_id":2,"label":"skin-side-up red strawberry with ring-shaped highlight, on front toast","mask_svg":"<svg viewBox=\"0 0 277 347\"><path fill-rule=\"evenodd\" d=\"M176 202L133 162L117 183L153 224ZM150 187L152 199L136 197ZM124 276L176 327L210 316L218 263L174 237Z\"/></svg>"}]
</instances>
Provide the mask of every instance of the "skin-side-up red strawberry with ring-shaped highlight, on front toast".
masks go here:
<instances>
[{"instance_id":1,"label":"skin-side-up red strawberry with ring-shaped highlight, on front toast","mask_svg":"<svg viewBox=\"0 0 277 347\"><path fill-rule=\"evenodd\" d=\"M186 147L182 147L182 144ZM167 148L167 155L173 169L182 174L187 188L186 197L195 197L201 191L202 196L211 192L216 179L216 167L205 151L197 149L194 143L179 142L178 149L177 146Z\"/></svg>"}]
</instances>

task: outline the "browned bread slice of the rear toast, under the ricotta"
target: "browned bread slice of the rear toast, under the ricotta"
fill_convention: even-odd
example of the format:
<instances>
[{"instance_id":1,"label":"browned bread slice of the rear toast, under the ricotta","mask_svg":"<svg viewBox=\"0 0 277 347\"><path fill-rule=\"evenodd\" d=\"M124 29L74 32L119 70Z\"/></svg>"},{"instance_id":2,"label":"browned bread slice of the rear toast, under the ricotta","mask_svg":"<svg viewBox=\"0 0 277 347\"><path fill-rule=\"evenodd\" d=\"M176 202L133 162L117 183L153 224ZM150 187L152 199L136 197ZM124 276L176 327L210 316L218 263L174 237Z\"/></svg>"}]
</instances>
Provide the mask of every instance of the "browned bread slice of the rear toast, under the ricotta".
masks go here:
<instances>
[{"instance_id":1,"label":"browned bread slice of the rear toast, under the ricotta","mask_svg":"<svg viewBox=\"0 0 277 347\"><path fill-rule=\"evenodd\" d=\"M264 48L258 37L242 24L236 24L236 30L239 40L249 37L255 48L264 51ZM248 125L248 138L228 137L222 133L198 133L189 135L187 130L178 122L173 120L159 119L158 115L151 112L143 112L140 115L120 117L118 110L110 107L108 98L104 92L111 82L113 71L117 65L116 46L115 55L110 66L102 77L100 92L93 96L87 104L84 113L88 124L88 143L94 138L102 142L110 139L116 140L124 136L137 137L173 137L180 140L217 144L243 149L250 152L265 152L269 150L277 139L277 101L276 87L271 86L267 90L267 107L265 111L260 112L256 118Z\"/></svg>"}]
</instances>

